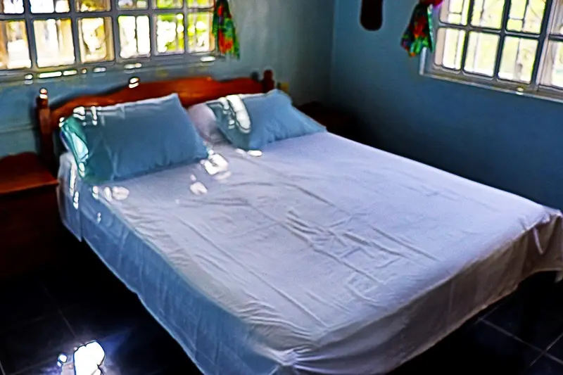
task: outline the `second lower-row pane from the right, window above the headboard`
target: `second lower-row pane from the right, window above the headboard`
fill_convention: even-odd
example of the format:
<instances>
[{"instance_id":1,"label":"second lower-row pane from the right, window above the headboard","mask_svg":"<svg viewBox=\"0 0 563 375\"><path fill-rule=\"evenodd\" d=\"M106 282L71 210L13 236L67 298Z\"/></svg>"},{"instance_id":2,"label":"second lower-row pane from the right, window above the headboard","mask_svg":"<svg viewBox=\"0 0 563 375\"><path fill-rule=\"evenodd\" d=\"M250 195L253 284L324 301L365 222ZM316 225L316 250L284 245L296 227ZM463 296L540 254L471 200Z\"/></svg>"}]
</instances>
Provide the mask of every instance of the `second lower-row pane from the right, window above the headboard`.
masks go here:
<instances>
[{"instance_id":1,"label":"second lower-row pane from the right, window above the headboard","mask_svg":"<svg viewBox=\"0 0 563 375\"><path fill-rule=\"evenodd\" d=\"M184 15L182 13L156 16L156 47L158 53L184 52Z\"/></svg>"}]
</instances>

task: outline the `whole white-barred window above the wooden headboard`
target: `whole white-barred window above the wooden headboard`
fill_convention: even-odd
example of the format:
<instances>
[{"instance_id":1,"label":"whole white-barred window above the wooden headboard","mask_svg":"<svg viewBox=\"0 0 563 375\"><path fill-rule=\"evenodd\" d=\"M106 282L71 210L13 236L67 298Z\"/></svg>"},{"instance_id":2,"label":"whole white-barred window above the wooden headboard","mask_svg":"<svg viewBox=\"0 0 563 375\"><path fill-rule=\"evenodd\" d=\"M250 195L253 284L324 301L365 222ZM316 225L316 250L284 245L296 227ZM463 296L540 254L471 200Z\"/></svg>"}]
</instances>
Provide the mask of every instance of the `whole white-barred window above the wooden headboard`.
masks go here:
<instances>
[{"instance_id":1,"label":"whole white-barred window above the wooden headboard","mask_svg":"<svg viewBox=\"0 0 563 375\"><path fill-rule=\"evenodd\" d=\"M215 51L214 7L215 0L0 0L0 77L198 61Z\"/></svg>"}]
</instances>

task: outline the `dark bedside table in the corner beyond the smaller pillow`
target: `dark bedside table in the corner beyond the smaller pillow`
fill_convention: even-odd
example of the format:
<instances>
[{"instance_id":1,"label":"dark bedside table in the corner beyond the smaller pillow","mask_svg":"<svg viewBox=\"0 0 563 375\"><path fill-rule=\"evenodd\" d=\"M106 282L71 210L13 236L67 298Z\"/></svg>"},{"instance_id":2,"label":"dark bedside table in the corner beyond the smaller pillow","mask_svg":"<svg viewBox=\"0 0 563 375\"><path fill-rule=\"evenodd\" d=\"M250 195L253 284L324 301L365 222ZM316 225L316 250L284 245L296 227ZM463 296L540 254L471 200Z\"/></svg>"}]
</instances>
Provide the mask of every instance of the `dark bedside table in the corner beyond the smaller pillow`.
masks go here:
<instances>
[{"instance_id":1,"label":"dark bedside table in the corner beyond the smaller pillow","mask_svg":"<svg viewBox=\"0 0 563 375\"><path fill-rule=\"evenodd\" d=\"M353 117L334 110L316 101L298 106L298 110L319 122L333 134L348 139L357 139L357 125Z\"/></svg>"}]
</instances>

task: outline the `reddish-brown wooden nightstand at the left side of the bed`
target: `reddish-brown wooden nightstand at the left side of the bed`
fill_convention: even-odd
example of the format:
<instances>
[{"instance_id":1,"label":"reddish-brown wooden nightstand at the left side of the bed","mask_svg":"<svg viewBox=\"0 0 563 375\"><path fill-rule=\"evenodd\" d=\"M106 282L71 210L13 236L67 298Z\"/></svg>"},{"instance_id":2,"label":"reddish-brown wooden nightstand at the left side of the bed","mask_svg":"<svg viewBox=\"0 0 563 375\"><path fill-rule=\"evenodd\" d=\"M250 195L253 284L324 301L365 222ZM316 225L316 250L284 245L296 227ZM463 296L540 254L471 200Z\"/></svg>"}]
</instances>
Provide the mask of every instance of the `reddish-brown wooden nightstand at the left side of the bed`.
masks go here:
<instances>
[{"instance_id":1,"label":"reddish-brown wooden nightstand at the left side of the bed","mask_svg":"<svg viewBox=\"0 0 563 375\"><path fill-rule=\"evenodd\" d=\"M0 277L31 272L64 247L56 185L34 153L0 159Z\"/></svg>"}]
</instances>

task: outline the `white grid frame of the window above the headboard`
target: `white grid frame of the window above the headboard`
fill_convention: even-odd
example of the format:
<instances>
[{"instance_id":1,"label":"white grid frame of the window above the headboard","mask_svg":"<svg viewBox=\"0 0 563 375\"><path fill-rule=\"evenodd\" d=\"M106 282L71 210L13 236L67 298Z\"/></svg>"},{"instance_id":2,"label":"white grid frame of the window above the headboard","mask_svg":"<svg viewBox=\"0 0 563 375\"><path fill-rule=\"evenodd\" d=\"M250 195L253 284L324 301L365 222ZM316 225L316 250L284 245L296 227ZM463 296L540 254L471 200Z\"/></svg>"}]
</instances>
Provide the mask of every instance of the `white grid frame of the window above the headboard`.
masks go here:
<instances>
[{"instance_id":1,"label":"white grid frame of the window above the headboard","mask_svg":"<svg viewBox=\"0 0 563 375\"><path fill-rule=\"evenodd\" d=\"M2 0L0 0L2 1ZM214 5L209 7L189 7L188 1L183 0L181 8L156 8L156 1L147 0L148 7L146 9L120 9L118 8L118 0L110 1L110 11L76 11L76 0L68 0L70 11L65 13L31 13L30 0L23 0L23 13L0 13L0 21L23 20L25 21L25 32L27 34L28 49L30 51L31 68L17 68L0 70L0 82L25 80L30 82L37 78L53 78L64 77L70 75L87 75L110 71L132 70L137 71L140 68L156 68L161 66L175 65L191 65L200 63L212 63L217 58L217 42L211 51L190 52L188 51L188 23L189 14L191 13L213 13ZM215 1L214 1L215 4ZM184 15L184 51L178 53L158 53L156 45L156 15L182 13ZM132 58L121 57L120 45L120 29L118 25L118 17L120 15L147 15L148 25L151 38L151 54L150 56L139 56ZM80 42L78 20L80 18L104 18L111 20L112 38L113 38L113 60L99 62L82 62L80 55ZM68 19L72 25L72 42L75 53L75 63L70 65L58 65L40 68L37 65L37 48L35 42L35 33L32 26L34 20L47 19Z\"/></svg>"}]
</instances>

